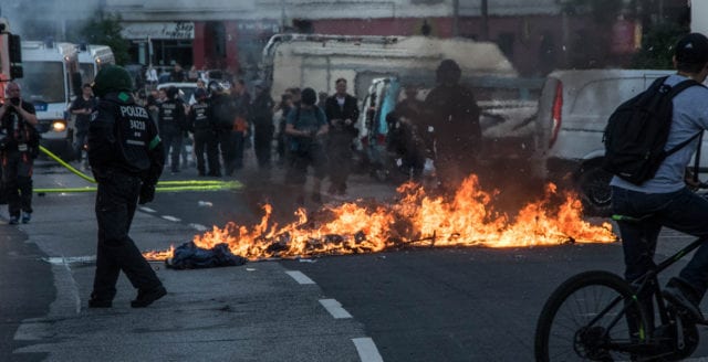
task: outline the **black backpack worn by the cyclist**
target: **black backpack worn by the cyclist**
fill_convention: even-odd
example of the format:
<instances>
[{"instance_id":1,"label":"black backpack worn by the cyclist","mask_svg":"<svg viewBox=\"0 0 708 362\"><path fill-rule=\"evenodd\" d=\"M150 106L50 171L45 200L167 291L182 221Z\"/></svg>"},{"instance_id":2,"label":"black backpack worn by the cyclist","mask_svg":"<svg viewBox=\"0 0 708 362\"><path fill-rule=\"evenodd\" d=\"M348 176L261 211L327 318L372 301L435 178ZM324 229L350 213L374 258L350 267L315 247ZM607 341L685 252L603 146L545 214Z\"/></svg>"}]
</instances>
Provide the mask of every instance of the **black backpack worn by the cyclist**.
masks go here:
<instances>
[{"instance_id":1,"label":"black backpack worn by the cyclist","mask_svg":"<svg viewBox=\"0 0 708 362\"><path fill-rule=\"evenodd\" d=\"M669 155L702 134L664 150L671 127L674 97L688 87L701 85L686 79L671 87L664 84L666 78L654 81L646 91L620 105L610 116L603 135L602 168L637 185L652 179Z\"/></svg>"}]
</instances>

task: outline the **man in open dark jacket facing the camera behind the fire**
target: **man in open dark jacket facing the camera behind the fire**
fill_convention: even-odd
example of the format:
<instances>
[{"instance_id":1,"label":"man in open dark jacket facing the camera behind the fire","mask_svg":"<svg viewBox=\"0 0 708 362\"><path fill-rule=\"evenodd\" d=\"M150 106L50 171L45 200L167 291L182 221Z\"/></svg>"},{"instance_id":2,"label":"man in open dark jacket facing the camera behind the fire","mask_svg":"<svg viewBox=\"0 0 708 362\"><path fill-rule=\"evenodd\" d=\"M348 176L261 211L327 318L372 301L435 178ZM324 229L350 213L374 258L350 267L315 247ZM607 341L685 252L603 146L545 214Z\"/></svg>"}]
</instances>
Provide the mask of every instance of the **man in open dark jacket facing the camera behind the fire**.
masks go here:
<instances>
[{"instance_id":1,"label":"man in open dark jacket facing the camera behind the fire","mask_svg":"<svg viewBox=\"0 0 708 362\"><path fill-rule=\"evenodd\" d=\"M346 193L346 179L352 172L352 141L358 135L358 129L355 127L358 119L358 105L356 98L346 93L346 79L336 79L335 89L336 93L325 102L324 109L330 125L327 158L329 177L332 183L329 192L343 195Z\"/></svg>"}]
</instances>

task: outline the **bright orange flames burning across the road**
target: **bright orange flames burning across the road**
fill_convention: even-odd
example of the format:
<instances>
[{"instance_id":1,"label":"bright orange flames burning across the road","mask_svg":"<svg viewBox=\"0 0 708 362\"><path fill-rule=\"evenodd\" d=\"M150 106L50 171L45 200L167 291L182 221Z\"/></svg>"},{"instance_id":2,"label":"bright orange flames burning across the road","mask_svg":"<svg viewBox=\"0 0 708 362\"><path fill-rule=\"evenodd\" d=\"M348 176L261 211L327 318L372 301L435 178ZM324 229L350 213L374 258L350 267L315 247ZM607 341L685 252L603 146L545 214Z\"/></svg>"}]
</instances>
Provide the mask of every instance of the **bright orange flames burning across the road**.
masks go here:
<instances>
[{"instance_id":1,"label":"bright orange flames burning across the road","mask_svg":"<svg viewBox=\"0 0 708 362\"><path fill-rule=\"evenodd\" d=\"M360 200L325 205L314 215L299 209L298 221L285 225L271 221L272 206L266 204L259 224L247 227L229 222L221 228L214 226L210 232L196 235L194 243L202 248L226 243L233 254L257 260L424 245L518 247L616 241L610 223L596 226L585 222L577 196L559 195L553 183L546 185L542 200L527 204L516 217L493 210L496 192L482 191L473 174L451 200L428 195L421 185L412 182L396 191L399 198L393 204ZM554 206L555 203L560 205ZM160 260L171 256L171 251L144 255Z\"/></svg>"}]
</instances>

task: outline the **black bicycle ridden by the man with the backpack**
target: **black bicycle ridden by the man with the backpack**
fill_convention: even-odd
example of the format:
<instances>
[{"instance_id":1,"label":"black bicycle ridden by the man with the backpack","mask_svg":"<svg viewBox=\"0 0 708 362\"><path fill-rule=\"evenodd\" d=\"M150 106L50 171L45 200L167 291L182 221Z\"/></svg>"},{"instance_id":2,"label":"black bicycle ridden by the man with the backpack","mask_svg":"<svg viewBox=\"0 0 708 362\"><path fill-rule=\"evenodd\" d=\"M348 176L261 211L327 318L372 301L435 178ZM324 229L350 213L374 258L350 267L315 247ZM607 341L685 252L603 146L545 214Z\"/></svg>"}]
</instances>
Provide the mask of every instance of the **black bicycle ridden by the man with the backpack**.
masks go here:
<instances>
[{"instance_id":1,"label":"black bicycle ridden by the man with the backpack","mask_svg":"<svg viewBox=\"0 0 708 362\"><path fill-rule=\"evenodd\" d=\"M565 280L539 317L535 360L676 361L691 355L699 342L697 326L708 323L667 304L658 275L707 241L697 238L633 284L604 270Z\"/></svg>"}]
</instances>

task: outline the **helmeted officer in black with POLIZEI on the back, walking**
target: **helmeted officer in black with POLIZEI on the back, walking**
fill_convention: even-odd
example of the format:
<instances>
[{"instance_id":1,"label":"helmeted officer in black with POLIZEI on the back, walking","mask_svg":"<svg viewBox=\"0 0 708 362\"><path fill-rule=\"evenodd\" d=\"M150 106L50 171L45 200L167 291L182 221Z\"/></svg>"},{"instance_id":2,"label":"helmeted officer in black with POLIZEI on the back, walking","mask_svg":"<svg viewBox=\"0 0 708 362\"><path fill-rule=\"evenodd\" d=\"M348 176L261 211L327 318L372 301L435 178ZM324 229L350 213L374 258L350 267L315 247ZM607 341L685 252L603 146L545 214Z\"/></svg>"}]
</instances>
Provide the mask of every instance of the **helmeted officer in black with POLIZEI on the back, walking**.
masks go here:
<instances>
[{"instance_id":1,"label":"helmeted officer in black with POLIZEI on the back, walking","mask_svg":"<svg viewBox=\"0 0 708 362\"><path fill-rule=\"evenodd\" d=\"M108 65L96 74L100 103L88 126L88 161L98 183L98 245L90 308L110 308L121 270L137 289L133 308L147 307L167 291L128 236L137 204L153 201L165 151L148 110L131 95L125 68Z\"/></svg>"}]
</instances>

